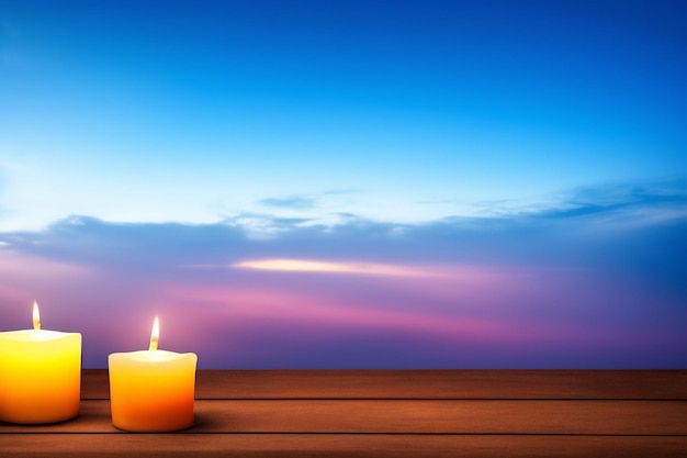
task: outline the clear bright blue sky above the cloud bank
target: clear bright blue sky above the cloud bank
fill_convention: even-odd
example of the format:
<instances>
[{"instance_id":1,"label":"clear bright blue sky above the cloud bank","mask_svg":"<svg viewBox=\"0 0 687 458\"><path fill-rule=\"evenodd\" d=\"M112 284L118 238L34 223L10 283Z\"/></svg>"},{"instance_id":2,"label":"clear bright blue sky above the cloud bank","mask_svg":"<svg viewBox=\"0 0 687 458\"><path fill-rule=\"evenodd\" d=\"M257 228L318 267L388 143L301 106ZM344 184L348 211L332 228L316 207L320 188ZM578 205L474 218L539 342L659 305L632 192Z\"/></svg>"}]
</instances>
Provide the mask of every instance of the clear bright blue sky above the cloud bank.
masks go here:
<instances>
[{"instance_id":1,"label":"clear bright blue sky above the cloud bank","mask_svg":"<svg viewBox=\"0 0 687 458\"><path fill-rule=\"evenodd\" d=\"M214 3L2 2L3 228L418 222L685 175L683 2Z\"/></svg>"}]
</instances>

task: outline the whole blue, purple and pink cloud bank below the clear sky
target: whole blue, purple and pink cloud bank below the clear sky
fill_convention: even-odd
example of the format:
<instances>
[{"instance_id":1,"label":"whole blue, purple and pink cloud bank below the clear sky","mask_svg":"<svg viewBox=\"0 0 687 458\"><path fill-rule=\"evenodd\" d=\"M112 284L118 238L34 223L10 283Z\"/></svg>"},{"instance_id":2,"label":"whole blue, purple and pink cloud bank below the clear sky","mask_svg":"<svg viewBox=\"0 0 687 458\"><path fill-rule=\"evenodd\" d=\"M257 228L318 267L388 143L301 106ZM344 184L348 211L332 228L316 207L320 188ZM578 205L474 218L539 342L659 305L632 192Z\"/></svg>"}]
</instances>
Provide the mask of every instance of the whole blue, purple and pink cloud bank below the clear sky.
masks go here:
<instances>
[{"instance_id":1,"label":"whole blue, purple and pink cloud bank below the clear sky","mask_svg":"<svg viewBox=\"0 0 687 458\"><path fill-rule=\"evenodd\" d=\"M145 344L155 314L165 346L199 347L204 367L678 367L687 215L674 188L425 224L71 216L0 234L2 322L21 326L38 299L53 328L94 342L86 367ZM413 356L385 359L392 348Z\"/></svg>"}]
</instances>

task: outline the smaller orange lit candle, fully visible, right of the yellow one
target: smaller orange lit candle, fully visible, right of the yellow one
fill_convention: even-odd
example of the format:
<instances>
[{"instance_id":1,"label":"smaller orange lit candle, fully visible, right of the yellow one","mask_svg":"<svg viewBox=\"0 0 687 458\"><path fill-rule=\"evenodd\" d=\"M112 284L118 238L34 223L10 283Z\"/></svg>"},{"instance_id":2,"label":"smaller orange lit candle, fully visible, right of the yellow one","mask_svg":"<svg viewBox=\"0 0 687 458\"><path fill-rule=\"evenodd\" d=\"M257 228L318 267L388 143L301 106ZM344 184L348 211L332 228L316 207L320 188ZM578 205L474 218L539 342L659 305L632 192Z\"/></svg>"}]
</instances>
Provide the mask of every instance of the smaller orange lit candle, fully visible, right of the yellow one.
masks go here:
<instances>
[{"instance_id":1,"label":"smaller orange lit candle, fully visible, right of the yellow one","mask_svg":"<svg viewBox=\"0 0 687 458\"><path fill-rule=\"evenodd\" d=\"M169 432L193 425L195 354L157 349L157 316L148 350L113 353L110 368L112 424L132 432Z\"/></svg>"}]
</instances>

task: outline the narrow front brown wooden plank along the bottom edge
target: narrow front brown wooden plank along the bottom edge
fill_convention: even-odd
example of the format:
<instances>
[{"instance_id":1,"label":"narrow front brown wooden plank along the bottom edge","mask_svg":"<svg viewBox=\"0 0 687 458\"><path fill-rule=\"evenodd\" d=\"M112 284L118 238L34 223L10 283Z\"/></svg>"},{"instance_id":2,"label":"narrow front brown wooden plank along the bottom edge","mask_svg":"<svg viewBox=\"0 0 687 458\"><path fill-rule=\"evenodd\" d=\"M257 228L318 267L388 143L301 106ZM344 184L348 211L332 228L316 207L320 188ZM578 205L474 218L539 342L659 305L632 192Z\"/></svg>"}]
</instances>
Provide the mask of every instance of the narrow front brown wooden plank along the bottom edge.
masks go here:
<instances>
[{"instance_id":1,"label":"narrow front brown wooden plank along the bottom edge","mask_svg":"<svg viewBox=\"0 0 687 458\"><path fill-rule=\"evenodd\" d=\"M604 457L684 458L687 437L274 434L0 435L13 458L159 457Z\"/></svg>"}]
</instances>

